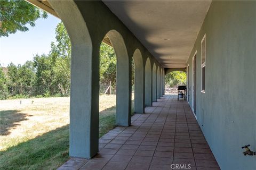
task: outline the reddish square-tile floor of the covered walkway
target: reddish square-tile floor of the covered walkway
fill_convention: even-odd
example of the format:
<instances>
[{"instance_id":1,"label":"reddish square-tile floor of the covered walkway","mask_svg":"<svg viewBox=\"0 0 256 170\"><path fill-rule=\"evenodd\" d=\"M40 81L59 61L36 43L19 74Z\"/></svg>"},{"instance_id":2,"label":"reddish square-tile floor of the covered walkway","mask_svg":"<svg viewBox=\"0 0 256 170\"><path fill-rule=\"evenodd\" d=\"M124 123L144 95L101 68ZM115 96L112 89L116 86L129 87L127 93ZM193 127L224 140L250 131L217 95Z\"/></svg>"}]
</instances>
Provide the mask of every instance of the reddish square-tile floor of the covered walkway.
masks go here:
<instances>
[{"instance_id":1,"label":"reddish square-tile floor of the covered walkway","mask_svg":"<svg viewBox=\"0 0 256 170\"><path fill-rule=\"evenodd\" d=\"M164 95L145 112L103 135L94 158L71 158L58 169L220 169L187 101Z\"/></svg>"}]
</instances>

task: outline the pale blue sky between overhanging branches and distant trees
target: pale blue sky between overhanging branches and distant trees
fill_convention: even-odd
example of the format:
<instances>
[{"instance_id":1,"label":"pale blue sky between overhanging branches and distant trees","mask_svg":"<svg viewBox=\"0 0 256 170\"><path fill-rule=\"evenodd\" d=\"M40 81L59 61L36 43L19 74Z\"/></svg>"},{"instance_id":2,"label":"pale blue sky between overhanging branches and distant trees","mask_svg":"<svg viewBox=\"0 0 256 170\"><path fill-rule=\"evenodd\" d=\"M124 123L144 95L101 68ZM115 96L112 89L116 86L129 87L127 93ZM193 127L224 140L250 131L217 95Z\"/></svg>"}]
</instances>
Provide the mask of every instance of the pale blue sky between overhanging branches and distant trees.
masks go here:
<instances>
[{"instance_id":1,"label":"pale blue sky between overhanging branches and distant trees","mask_svg":"<svg viewBox=\"0 0 256 170\"><path fill-rule=\"evenodd\" d=\"M48 14L46 19L36 20L35 27L26 32L17 31L9 37L0 38L0 63L7 66L9 63L24 64L33 60L35 54L48 54L51 42L55 42L55 28L60 19Z\"/></svg>"}]
</instances>

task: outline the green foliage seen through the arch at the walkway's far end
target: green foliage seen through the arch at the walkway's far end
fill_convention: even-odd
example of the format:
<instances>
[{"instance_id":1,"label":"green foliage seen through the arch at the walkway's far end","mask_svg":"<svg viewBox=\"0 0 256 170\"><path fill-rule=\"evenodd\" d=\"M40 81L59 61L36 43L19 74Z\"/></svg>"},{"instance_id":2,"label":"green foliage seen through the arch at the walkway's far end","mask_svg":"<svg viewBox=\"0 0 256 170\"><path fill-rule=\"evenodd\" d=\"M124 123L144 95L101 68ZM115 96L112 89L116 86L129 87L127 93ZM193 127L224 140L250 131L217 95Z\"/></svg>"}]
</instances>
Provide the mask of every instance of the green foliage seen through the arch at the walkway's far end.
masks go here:
<instances>
[{"instance_id":1,"label":"green foliage seen through the arch at the walkway's far end","mask_svg":"<svg viewBox=\"0 0 256 170\"><path fill-rule=\"evenodd\" d=\"M187 74L183 71L173 71L165 75L165 84L169 87L186 85Z\"/></svg>"}]
</instances>

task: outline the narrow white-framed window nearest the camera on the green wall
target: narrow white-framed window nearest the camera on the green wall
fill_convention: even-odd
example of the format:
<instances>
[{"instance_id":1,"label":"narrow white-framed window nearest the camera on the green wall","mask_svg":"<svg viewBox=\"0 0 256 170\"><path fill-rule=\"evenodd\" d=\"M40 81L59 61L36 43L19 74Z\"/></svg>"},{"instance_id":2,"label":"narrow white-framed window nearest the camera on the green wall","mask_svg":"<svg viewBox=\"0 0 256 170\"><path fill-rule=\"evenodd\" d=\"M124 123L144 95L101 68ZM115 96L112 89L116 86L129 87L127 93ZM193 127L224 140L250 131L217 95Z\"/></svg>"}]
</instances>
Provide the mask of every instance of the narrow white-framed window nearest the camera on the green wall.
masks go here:
<instances>
[{"instance_id":1,"label":"narrow white-framed window nearest the camera on the green wall","mask_svg":"<svg viewBox=\"0 0 256 170\"><path fill-rule=\"evenodd\" d=\"M201 41L201 92L205 92L206 36Z\"/></svg>"}]
</instances>

